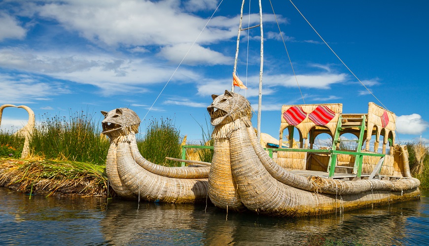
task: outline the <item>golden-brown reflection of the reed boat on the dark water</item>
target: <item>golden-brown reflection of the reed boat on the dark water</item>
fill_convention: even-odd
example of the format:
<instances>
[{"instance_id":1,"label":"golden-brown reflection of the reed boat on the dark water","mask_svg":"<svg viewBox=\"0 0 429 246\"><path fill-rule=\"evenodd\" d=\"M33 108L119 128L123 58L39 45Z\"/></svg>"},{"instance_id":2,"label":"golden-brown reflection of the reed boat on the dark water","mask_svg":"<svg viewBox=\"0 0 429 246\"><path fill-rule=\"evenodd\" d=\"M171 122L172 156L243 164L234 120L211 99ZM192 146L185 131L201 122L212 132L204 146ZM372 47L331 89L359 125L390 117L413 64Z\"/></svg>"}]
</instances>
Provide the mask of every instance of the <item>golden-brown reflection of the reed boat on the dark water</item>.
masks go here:
<instances>
[{"instance_id":1,"label":"golden-brown reflection of the reed boat on the dark water","mask_svg":"<svg viewBox=\"0 0 429 246\"><path fill-rule=\"evenodd\" d=\"M419 242L416 235L428 237L418 234L422 225L410 223L421 220L427 226L427 211L427 203L410 201L346 214L276 218L253 213L227 215L210 205L206 209L205 205L145 202L137 208L135 202L113 201L101 225L107 242L115 245L400 245Z\"/></svg>"}]
</instances>

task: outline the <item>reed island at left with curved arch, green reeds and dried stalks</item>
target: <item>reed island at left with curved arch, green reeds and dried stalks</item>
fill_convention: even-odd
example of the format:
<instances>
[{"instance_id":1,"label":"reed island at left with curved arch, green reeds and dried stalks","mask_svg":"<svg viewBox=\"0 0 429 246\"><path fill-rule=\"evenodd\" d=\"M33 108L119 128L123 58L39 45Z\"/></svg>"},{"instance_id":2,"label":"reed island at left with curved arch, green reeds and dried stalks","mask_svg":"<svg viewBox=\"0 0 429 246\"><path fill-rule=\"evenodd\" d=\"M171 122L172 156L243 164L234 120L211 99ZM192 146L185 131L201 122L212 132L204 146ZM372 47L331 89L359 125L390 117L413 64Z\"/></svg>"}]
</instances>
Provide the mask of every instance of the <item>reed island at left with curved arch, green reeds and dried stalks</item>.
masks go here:
<instances>
[{"instance_id":1,"label":"reed island at left with curved arch, green reeds and dried stalks","mask_svg":"<svg viewBox=\"0 0 429 246\"><path fill-rule=\"evenodd\" d=\"M14 133L0 133L0 155L5 156L0 157L0 186L48 196L115 196L108 190L103 160L108 141L97 134L91 117L75 114L69 121L45 117L36 127L29 107L4 104L0 123L3 109L8 107L25 109L29 121Z\"/></svg>"}]
</instances>

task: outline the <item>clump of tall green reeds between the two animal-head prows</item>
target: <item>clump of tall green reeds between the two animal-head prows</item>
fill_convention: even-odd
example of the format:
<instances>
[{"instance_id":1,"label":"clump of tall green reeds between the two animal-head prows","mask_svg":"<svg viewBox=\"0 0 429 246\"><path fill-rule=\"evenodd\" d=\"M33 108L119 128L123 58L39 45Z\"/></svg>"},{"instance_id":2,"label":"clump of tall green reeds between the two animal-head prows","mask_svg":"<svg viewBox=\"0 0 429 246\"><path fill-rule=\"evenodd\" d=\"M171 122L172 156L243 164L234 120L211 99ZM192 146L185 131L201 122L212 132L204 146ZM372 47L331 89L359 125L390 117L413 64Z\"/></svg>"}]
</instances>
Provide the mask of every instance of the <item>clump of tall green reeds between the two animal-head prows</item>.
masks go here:
<instances>
[{"instance_id":1,"label":"clump of tall green reeds between the two animal-head prows","mask_svg":"<svg viewBox=\"0 0 429 246\"><path fill-rule=\"evenodd\" d=\"M137 146L143 157L155 164L179 166L180 162L166 160L165 157L181 157L182 139L172 119L154 118L149 120L143 139L137 142Z\"/></svg>"}]
</instances>

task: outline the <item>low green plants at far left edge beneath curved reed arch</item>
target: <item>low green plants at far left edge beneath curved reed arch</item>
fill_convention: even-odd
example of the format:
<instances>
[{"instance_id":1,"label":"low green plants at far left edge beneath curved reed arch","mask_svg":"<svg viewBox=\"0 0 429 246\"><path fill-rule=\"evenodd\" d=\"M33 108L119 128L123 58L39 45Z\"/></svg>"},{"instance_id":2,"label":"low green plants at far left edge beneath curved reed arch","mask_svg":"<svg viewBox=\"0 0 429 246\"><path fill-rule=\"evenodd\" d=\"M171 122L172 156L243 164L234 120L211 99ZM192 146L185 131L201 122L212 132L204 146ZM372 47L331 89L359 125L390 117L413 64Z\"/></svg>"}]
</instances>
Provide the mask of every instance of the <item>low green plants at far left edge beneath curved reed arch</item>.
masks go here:
<instances>
[{"instance_id":1,"label":"low green plants at far left edge beneath curved reed arch","mask_svg":"<svg viewBox=\"0 0 429 246\"><path fill-rule=\"evenodd\" d=\"M0 156L21 157L25 138L13 134L12 130L0 131Z\"/></svg>"}]
</instances>

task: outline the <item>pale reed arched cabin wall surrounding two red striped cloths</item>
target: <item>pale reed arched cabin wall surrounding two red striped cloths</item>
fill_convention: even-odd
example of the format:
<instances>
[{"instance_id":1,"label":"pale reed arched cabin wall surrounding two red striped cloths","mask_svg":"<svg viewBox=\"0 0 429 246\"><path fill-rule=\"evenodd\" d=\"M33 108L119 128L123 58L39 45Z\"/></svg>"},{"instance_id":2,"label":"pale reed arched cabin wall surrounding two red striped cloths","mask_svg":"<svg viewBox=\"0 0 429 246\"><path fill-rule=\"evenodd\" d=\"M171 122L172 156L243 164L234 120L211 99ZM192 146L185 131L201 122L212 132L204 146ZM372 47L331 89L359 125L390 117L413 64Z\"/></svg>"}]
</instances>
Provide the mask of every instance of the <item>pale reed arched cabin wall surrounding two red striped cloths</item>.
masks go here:
<instances>
[{"instance_id":1,"label":"pale reed arched cabin wall surrounding two red striped cloths","mask_svg":"<svg viewBox=\"0 0 429 246\"><path fill-rule=\"evenodd\" d=\"M338 117L343 111L343 104L341 103L327 103L327 104L299 104L299 105L283 105L282 106L282 116L281 116L281 123L280 123L280 143L283 142L283 131L289 126L289 123L283 118L283 114L291 107L301 107L304 112L307 113L307 116L305 119L295 125L296 128L301 132L302 138L307 139L308 133L311 128L316 126L317 124L314 123L310 118L309 115L311 112L313 112L318 106L325 106L332 110L335 113L334 118L327 123L325 126L330 130L331 134L333 135L335 132L335 128L337 127L338 123ZM289 133L290 135L290 133Z\"/></svg>"}]
</instances>

